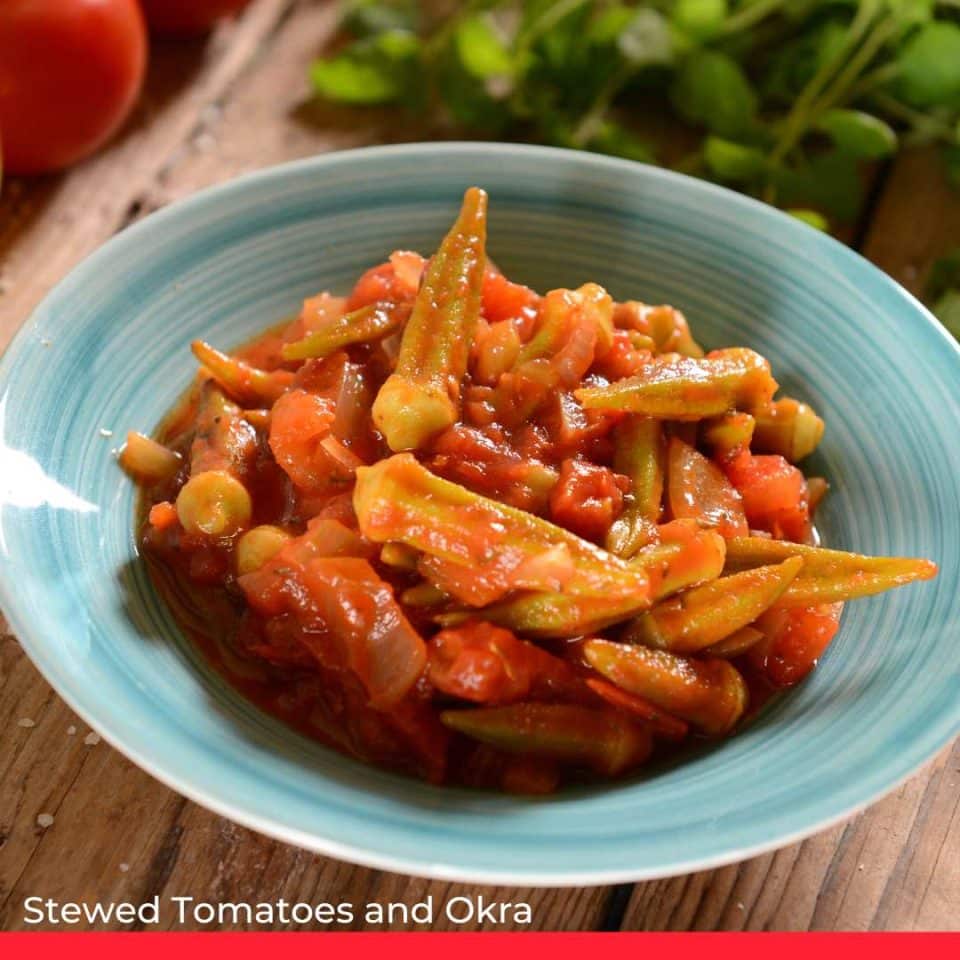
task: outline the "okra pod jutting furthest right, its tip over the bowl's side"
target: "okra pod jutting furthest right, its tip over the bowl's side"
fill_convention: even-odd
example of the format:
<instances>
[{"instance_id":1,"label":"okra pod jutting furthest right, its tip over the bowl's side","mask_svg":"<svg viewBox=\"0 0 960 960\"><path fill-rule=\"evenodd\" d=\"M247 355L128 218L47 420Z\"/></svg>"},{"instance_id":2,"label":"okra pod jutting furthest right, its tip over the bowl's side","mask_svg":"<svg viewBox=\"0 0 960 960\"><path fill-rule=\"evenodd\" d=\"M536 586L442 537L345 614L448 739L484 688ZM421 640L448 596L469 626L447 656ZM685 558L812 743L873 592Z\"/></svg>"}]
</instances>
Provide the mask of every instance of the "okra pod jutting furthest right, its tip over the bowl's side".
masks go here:
<instances>
[{"instance_id":1,"label":"okra pod jutting furthest right, its tip over the bowl's side","mask_svg":"<svg viewBox=\"0 0 960 960\"><path fill-rule=\"evenodd\" d=\"M867 557L764 537L739 537L727 543L730 569L779 563L788 557L801 557L803 569L778 600L784 607L855 600L937 575L937 565L930 560Z\"/></svg>"}]
</instances>

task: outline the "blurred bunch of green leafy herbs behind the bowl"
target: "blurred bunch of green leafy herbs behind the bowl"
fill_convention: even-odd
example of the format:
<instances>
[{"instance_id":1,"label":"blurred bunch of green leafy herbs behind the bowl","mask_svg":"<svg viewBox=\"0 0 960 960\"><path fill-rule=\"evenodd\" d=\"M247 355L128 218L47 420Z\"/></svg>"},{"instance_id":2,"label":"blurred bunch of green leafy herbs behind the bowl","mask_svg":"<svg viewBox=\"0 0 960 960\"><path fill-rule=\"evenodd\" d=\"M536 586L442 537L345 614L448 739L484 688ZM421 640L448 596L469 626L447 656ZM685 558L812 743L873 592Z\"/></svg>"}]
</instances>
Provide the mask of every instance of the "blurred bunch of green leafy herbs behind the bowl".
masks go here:
<instances>
[{"instance_id":1,"label":"blurred bunch of green leafy herbs behind the bowl","mask_svg":"<svg viewBox=\"0 0 960 960\"><path fill-rule=\"evenodd\" d=\"M736 186L815 226L935 143L960 187L960 0L349 0L317 94ZM429 110L427 105L429 104ZM662 123L664 116L674 123ZM660 119L656 119L656 118ZM677 158L659 133L686 127Z\"/></svg>"}]
</instances>

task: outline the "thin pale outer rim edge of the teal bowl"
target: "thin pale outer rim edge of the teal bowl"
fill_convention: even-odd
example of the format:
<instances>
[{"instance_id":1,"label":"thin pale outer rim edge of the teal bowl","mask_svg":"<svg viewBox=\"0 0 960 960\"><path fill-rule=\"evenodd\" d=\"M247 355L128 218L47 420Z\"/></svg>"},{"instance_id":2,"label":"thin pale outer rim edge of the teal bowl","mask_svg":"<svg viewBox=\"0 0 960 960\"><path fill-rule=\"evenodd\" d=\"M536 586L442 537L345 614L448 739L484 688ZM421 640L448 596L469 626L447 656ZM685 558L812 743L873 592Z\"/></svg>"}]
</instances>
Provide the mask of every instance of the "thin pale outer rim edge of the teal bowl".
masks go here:
<instances>
[{"instance_id":1,"label":"thin pale outer rim edge of the teal bowl","mask_svg":"<svg viewBox=\"0 0 960 960\"><path fill-rule=\"evenodd\" d=\"M887 292L898 297L905 309L912 311L931 326L952 353L955 361L960 364L960 344L946 331L933 314L908 290L897 283L892 277L867 260L856 250L847 247L834 237L822 233L806 223L791 217L774 207L737 193L726 187L709 181L700 180L686 174L667 170L649 164L631 160L608 157L600 154L591 154L581 151L567 150L557 147L545 147L530 144L502 143L502 142L472 142L472 141L443 141L438 143L419 142L406 144L391 144L369 147L358 147L350 150L338 150L319 154L299 160L265 167L250 173L233 177L223 183L205 187L187 197L161 208L144 217L142 220L120 230L105 243L83 258L75 265L42 300L33 308L30 316L21 324L11 339L9 345L0 355L0 395L3 395L11 371L17 365L20 354L30 341L35 326L38 324L44 305L58 296L64 287L83 284L89 277L96 275L105 265L109 264L113 250L120 245L137 242L141 238L149 237L151 232L161 229L168 220L175 220L185 211L199 209L204 204L215 202L229 197L233 193L241 193L258 184L282 181L291 175L320 171L329 165L341 163L349 164L356 158L379 159L389 161L393 157L410 157L429 154L449 155L455 157L464 152L488 154L490 156L506 153L516 153L528 157L541 158L544 163L550 163L563 158L577 158L585 165L599 169L606 168L612 173L620 172L625 176L642 176L651 181L660 181L674 189L700 192L706 197L713 197L720 202L732 205L744 211L752 212L766 218L770 223L779 225L783 229L800 231L799 235L806 236L808 242L829 250L832 257L846 261L858 270L867 270L873 279L885 286ZM0 555L0 561L4 558ZM434 863L429 854L420 859L410 856L394 856L384 852L382 844L372 843L363 847L354 843L340 843L329 836L320 836L316 833L301 830L295 827L279 824L269 817L248 812L242 805L235 806L227 799L221 799L210 789L195 786L186 775L178 775L168 771L163 761L155 761L148 753L139 749L135 744L127 742L127 738L114 733L106 727L101 727L99 718L94 710L88 710L81 705L79 694L66 684L61 683L51 668L45 669L45 651L49 649L49 638L39 636L31 627L27 610L18 600L16 583L7 575L6 565L0 562L0 610L5 614L11 630L21 644L22 649L30 658L33 665L39 670L44 679L53 687L70 709L76 713L92 730L95 730L114 749L135 763L150 776L159 780L168 788L198 803L219 816L226 817L241 826L255 830L266 836L290 843L325 856L374 869L389 870L406 875L425 877L430 879L456 881L462 883L496 884L513 886L537 887L571 887L585 885L610 885L626 882L641 882L644 880L679 876L682 874L714 869L727 864L736 863L758 856L773 850L796 843L815 833L841 823L856 815L882 797L892 793L903 783L913 777L922 767L928 764L934 756L960 734L960 702L954 714L943 713L938 724L931 724L926 733L926 746L913 755L910 762L899 765L893 779L886 781L877 788L871 788L855 802L848 803L840 810L829 816L821 817L807 823L793 831L781 833L773 839L764 840L756 844L748 844L730 849L709 857L687 857L684 860L664 865L662 867L647 867L640 869L578 869L563 872L539 873L536 870L525 868L487 869L461 868L456 864ZM888 764L889 766L889 764Z\"/></svg>"}]
</instances>

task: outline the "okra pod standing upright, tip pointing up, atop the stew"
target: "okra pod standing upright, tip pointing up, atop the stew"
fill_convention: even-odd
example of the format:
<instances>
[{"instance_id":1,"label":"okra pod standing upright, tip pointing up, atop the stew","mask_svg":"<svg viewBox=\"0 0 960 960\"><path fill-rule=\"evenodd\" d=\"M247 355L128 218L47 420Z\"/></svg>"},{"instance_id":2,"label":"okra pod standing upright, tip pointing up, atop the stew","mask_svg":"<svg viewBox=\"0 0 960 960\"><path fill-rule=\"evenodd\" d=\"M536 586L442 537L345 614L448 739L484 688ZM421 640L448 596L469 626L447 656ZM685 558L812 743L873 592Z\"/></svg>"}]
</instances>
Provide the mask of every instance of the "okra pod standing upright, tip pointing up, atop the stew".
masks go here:
<instances>
[{"instance_id":1,"label":"okra pod standing upright, tip pointing up, atop the stew","mask_svg":"<svg viewBox=\"0 0 960 960\"><path fill-rule=\"evenodd\" d=\"M416 450L457 421L460 385L480 316L487 195L471 187L427 267L403 332L396 370L373 419L391 450Z\"/></svg>"}]
</instances>

